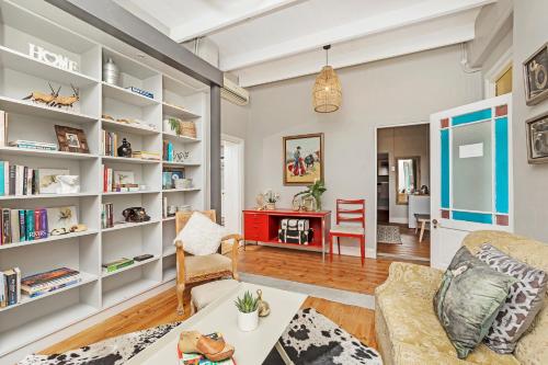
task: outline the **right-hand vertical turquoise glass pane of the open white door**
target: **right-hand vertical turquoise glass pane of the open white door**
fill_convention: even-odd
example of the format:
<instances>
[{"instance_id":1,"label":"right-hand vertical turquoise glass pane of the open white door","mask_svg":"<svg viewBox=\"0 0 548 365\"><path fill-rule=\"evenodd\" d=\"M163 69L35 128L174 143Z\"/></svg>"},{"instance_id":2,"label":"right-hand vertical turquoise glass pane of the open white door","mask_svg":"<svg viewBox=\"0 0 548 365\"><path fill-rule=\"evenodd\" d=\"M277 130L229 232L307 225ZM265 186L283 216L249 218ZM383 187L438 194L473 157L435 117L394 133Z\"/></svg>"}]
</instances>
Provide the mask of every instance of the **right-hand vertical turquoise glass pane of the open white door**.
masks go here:
<instances>
[{"instance_id":1,"label":"right-hand vertical turquoise glass pane of the open white door","mask_svg":"<svg viewBox=\"0 0 548 365\"><path fill-rule=\"evenodd\" d=\"M509 118L498 118L494 124L495 140L495 210L509 213Z\"/></svg>"}]
</instances>

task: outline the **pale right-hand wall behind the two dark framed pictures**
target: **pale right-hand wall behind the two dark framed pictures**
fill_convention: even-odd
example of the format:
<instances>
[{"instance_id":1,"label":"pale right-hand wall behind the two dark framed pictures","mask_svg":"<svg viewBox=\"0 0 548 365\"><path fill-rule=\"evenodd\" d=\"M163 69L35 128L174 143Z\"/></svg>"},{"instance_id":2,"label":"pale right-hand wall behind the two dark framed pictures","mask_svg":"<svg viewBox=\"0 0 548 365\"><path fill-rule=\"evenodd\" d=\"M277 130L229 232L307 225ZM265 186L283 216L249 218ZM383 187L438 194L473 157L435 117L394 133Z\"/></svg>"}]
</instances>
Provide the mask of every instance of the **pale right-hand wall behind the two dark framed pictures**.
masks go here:
<instances>
[{"instance_id":1,"label":"pale right-hand wall behind the two dark framed pictures","mask_svg":"<svg viewBox=\"0 0 548 365\"><path fill-rule=\"evenodd\" d=\"M548 164L528 164L525 121L548 111L548 100L525 104L522 62L548 41L548 1L514 3L513 147L515 231L548 242Z\"/></svg>"}]
</instances>

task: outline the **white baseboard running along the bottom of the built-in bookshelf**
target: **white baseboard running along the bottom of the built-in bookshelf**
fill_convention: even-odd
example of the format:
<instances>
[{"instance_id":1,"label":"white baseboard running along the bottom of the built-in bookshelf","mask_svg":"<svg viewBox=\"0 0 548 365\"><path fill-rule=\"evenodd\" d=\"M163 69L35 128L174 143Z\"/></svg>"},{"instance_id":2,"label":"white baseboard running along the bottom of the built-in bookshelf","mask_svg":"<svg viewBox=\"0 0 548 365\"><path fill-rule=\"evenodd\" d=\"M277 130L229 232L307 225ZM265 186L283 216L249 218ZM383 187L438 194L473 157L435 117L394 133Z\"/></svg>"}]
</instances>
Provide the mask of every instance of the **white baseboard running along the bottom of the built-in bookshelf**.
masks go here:
<instances>
[{"instance_id":1,"label":"white baseboard running along the bottom of the built-in bookshelf","mask_svg":"<svg viewBox=\"0 0 548 365\"><path fill-rule=\"evenodd\" d=\"M147 299L150 299L151 297L169 289L173 288L175 286L175 281L170 281L163 284L159 284L158 286L153 287L150 290L147 290L142 294L139 294L133 298L129 298L125 301L122 301L121 304L110 307L107 309L104 309L91 317L88 317L75 324L71 324L69 327L66 327L62 330L59 330L57 332L54 332L45 338L42 338L26 346L23 346L19 350L15 350L2 357L0 357L0 364L15 364L23 360L26 355L37 353L44 349L47 349L56 343L59 343L83 330L87 330L88 328L98 324L105 319L119 313L121 311L124 311L141 301L145 301Z\"/></svg>"}]
</instances>

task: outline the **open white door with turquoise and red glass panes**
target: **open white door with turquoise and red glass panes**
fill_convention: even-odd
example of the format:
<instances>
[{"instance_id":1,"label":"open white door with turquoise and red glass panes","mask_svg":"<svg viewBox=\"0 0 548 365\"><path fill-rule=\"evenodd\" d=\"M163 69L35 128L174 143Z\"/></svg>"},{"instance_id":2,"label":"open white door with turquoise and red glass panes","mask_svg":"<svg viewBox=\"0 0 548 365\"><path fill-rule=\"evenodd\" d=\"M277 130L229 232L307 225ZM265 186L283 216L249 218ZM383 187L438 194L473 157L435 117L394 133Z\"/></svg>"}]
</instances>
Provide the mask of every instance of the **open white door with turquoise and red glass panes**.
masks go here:
<instances>
[{"instance_id":1,"label":"open white door with turquoise and red glass panes","mask_svg":"<svg viewBox=\"0 0 548 365\"><path fill-rule=\"evenodd\" d=\"M513 230L512 94L433 114L431 265L445 269L473 230Z\"/></svg>"}]
</instances>

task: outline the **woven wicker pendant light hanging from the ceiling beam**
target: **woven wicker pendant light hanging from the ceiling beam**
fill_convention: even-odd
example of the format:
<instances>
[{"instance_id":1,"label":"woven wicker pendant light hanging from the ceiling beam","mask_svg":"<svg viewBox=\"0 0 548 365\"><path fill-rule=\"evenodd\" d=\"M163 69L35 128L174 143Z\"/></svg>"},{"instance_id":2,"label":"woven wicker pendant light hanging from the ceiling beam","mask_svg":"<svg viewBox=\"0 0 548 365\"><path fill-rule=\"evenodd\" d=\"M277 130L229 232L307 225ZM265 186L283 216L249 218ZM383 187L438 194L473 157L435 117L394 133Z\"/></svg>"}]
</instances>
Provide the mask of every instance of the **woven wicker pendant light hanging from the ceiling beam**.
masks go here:
<instances>
[{"instance_id":1,"label":"woven wicker pendant light hanging from the ceiling beam","mask_svg":"<svg viewBox=\"0 0 548 365\"><path fill-rule=\"evenodd\" d=\"M341 107L342 88L335 70L329 66L329 49L331 45L323 46L326 49L326 66L316 77L312 90L313 110L318 113L332 113Z\"/></svg>"}]
</instances>

